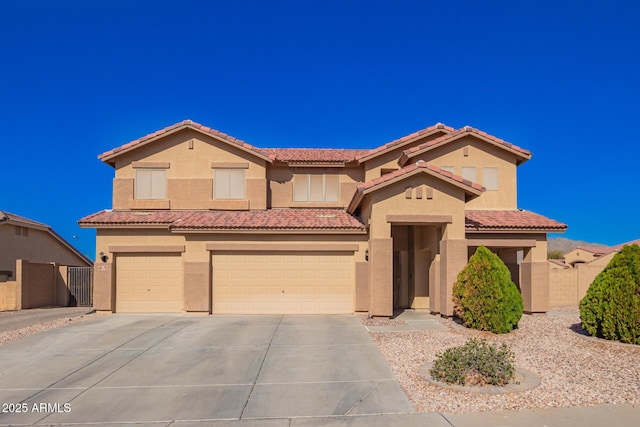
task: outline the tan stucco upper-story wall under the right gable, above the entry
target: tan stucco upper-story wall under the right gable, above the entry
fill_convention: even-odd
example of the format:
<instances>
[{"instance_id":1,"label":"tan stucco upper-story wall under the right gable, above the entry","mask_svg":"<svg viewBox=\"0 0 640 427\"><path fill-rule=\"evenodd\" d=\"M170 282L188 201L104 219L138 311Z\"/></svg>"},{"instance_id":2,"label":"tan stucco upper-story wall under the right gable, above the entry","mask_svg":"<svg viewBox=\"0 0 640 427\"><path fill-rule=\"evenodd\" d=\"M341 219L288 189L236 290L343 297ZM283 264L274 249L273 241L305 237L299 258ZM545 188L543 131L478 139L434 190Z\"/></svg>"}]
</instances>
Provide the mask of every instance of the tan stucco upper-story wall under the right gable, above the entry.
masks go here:
<instances>
[{"instance_id":1,"label":"tan stucco upper-story wall under the right gable, above the entry","mask_svg":"<svg viewBox=\"0 0 640 427\"><path fill-rule=\"evenodd\" d=\"M465 148L468 156L464 155ZM462 167L475 167L478 184L483 184L482 168L496 167L498 190L483 192L480 197L467 203L467 209L517 208L516 157L505 150L472 136L466 136L414 156L409 163L415 163L418 160L424 160L439 167L453 166L456 175L462 175Z\"/></svg>"}]
</instances>

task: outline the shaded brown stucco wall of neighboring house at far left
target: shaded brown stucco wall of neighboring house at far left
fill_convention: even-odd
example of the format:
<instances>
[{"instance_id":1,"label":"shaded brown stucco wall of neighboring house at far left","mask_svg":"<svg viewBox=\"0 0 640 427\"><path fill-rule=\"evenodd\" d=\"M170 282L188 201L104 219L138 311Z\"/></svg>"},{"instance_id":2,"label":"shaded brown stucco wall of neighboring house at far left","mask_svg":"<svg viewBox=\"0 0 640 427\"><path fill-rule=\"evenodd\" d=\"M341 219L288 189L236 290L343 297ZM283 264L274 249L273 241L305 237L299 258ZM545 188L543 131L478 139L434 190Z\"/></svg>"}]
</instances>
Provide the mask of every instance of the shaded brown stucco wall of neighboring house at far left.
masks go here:
<instances>
[{"instance_id":1,"label":"shaded brown stucco wall of neighboring house at far left","mask_svg":"<svg viewBox=\"0 0 640 427\"><path fill-rule=\"evenodd\" d=\"M54 238L48 231L29 228L28 236L16 236L12 224L0 225L0 270L11 271L15 280L16 260L34 263L55 262L62 265L86 266L84 259Z\"/></svg>"}]
</instances>

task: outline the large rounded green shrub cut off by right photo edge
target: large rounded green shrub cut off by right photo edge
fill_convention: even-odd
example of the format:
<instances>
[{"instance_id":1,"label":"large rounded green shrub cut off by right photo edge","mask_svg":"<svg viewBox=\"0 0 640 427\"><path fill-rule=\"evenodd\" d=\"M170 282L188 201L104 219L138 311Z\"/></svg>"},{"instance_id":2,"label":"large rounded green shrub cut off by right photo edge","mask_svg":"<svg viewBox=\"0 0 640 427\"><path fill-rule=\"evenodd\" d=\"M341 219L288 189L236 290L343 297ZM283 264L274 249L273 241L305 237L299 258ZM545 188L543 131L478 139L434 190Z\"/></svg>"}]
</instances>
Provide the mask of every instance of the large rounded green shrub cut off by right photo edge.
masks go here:
<instances>
[{"instance_id":1,"label":"large rounded green shrub cut off by right photo edge","mask_svg":"<svg viewBox=\"0 0 640 427\"><path fill-rule=\"evenodd\" d=\"M640 246L624 246L596 276L580 319L590 335L640 344Z\"/></svg>"}]
</instances>

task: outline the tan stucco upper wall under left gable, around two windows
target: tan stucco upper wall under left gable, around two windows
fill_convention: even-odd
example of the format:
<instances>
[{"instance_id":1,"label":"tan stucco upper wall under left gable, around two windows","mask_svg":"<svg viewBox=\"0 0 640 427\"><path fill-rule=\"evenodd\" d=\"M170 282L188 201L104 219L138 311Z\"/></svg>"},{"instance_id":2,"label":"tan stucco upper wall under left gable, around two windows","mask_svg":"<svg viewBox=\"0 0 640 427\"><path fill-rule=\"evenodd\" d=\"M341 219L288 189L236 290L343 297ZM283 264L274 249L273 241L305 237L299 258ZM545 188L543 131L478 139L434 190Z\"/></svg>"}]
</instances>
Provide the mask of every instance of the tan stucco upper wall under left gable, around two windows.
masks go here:
<instances>
[{"instance_id":1,"label":"tan stucco upper wall under left gable, around two windows","mask_svg":"<svg viewBox=\"0 0 640 427\"><path fill-rule=\"evenodd\" d=\"M193 148L189 148L190 146ZM136 161L169 163L169 168L166 169L168 204L134 201L133 162ZM218 207L213 200L212 162L248 164L245 200L249 204L245 202L234 209L266 209L266 162L229 143L189 129L124 153L116 159L113 208L229 209L228 206Z\"/></svg>"}]
</instances>

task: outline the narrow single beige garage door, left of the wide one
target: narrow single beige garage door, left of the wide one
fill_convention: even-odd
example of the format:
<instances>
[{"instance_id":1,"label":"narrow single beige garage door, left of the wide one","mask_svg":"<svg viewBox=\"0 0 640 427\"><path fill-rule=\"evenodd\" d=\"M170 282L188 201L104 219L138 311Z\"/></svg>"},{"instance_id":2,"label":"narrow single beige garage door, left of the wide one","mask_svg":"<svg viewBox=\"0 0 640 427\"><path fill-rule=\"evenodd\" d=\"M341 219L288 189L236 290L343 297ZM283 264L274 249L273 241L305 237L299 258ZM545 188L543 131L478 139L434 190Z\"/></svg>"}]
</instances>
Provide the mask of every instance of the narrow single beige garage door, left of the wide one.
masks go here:
<instances>
[{"instance_id":1,"label":"narrow single beige garage door, left of the wide one","mask_svg":"<svg viewBox=\"0 0 640 427\"><path fill-rule=\"evenodd\" d=\"M116 258L116 312L175 313L182 310L179 255L122 254Z\"/></svg>"}]
</instances>

